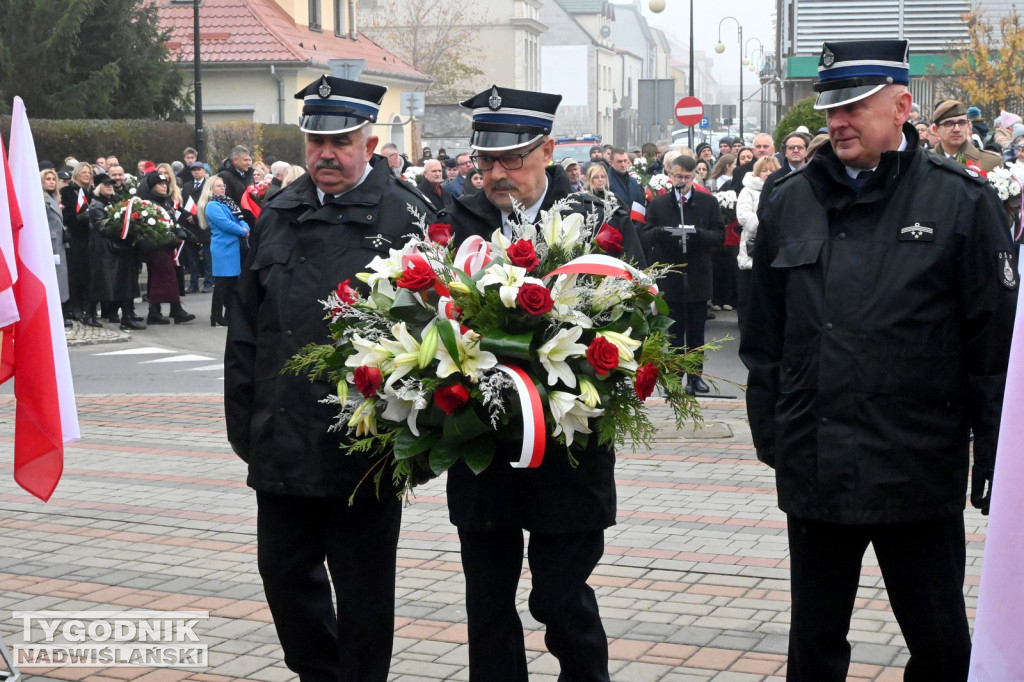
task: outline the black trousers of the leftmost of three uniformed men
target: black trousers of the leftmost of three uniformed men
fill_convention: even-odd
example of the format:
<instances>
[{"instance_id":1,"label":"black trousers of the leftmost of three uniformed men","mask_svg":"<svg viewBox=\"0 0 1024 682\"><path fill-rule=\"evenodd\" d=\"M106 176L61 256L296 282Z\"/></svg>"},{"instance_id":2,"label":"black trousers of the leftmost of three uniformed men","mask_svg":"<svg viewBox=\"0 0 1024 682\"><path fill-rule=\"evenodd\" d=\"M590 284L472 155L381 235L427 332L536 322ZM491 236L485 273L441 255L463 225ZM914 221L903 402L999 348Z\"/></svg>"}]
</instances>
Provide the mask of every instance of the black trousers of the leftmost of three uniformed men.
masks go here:
<instances>
[{"instance_id":1,"label":"black trousers of the leftmost of three uniformed men","mask_svg":"<svg viewBox=\"0 0 1024 682\"><path fill-rule=\"evenodd\" d=\"M259 572L285 664L302 682L386 682L400 501L349 507L257 492L256 502Z\"/></svg>"}]
</instances>

